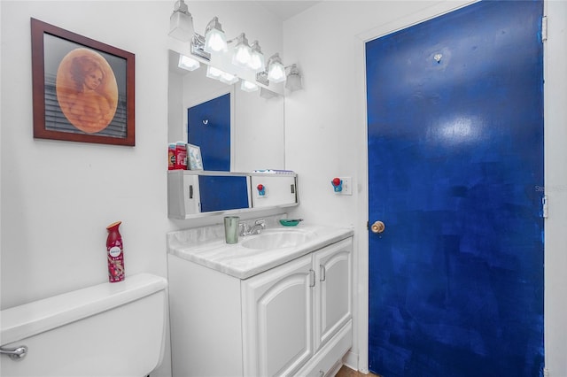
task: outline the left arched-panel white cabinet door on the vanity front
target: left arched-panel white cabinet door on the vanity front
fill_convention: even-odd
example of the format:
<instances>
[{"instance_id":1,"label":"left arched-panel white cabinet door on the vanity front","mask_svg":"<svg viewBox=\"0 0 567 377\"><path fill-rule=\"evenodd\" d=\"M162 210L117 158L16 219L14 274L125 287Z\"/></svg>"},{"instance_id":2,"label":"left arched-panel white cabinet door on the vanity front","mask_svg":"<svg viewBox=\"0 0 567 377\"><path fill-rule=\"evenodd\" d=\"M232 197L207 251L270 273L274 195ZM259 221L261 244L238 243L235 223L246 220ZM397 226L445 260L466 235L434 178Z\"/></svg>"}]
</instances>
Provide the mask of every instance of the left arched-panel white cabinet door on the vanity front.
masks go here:
<instances>
[{"instance_id":1,"label":"left arched-panel white cabinet door on the vanity front","mask_svg":"<svg viewBox=\"0 0 567 377\"><path fill-rule=\"evenodd\" d=\"M313 355L311 255L242 284L245 376L292 375Z\"/></svg>"}]
</instances>

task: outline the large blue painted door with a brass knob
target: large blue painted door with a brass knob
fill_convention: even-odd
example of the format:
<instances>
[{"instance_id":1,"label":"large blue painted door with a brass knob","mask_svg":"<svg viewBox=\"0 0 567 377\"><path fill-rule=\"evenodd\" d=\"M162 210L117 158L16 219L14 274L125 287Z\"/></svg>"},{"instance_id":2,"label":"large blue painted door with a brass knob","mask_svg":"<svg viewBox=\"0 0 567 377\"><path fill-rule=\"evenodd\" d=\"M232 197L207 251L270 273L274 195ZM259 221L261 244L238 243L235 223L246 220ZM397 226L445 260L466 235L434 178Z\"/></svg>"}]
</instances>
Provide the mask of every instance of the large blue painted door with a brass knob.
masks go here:
<instances>
[{"instance_id":1,"label":"large blue painted door with a brass knob","mask_svg":"<svg viewBox=\"0 0 567 377\"><path fill-rule=\"evenodd\" d=\"M369 369L540 376L540 1L367 43Z\"/></svg>"}]
</instances>

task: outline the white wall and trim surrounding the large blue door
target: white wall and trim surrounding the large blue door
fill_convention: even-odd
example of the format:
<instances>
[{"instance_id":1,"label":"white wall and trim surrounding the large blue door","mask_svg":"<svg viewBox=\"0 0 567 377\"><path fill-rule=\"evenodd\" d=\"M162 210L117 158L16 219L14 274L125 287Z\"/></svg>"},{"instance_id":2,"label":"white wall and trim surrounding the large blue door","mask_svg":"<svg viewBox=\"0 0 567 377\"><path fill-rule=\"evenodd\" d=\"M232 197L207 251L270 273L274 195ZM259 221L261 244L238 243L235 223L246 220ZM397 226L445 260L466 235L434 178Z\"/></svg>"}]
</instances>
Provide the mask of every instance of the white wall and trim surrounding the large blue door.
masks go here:
<instances>
[{"instance_id":1,"label":"white wall and trim surrounding the large blue door","mask_svg":"<svg viewBox=\"0 0 567 377\"><path fill-rule=\"evenodd\" d=\"M364 42L458 8L470 1L322 2L283 24L284 64L299 62L304 90L285 99L286 168L299 173L301 205L293 213L309 222L354 227L357 277L355 347L348 363L368 366L368 190ZM567 140L564 119L566 2L549 6L546 79L546 177L550 193L546 222L546 365L551 376L567 375ZM553 42L552 42L553 40ZM563 68L562 68L563 67ZM552 89L553 88L553 89ZM554 98L549 98L548 91ZM563 104L563 107L562 107ZM555 140L553 142L552 140ZM553 143L553 145L551 144ZM563 148L563 149L562 149ZM552 166L554 167L552 169ZM351 176L353 196L335 196L330 180ZM548 182L546 182L548 184ZM371 219L375 220L375 219ZM549 263L554 265L550 266ZM562 273L563 271L563 273Z\"/></svg>"}]
</instances>

